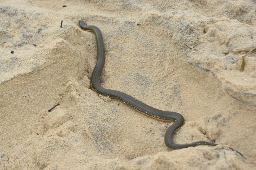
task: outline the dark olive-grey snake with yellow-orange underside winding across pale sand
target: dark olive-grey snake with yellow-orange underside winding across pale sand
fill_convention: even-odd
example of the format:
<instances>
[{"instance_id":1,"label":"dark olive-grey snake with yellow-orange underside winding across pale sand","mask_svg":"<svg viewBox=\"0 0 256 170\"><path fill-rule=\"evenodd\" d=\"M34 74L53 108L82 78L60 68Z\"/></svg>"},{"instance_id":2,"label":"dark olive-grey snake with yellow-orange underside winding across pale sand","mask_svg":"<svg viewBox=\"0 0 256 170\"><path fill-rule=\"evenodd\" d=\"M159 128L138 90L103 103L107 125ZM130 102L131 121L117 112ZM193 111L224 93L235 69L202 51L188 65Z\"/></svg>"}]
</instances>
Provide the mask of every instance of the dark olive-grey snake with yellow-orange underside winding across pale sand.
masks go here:
<instances>
[{"instance_id":1,"label":"dark olive-grey snake with yellow-orange underside winding across pale sand","mask_svg":"<svg viewBox=\"0 0 256 170\"><path fill-rule=\"evenodd\" d=\"M182 115L177 112L156 109L154 107L148 106L147 104L133 98L132 96L124 92L106 89L102 87L100 85L100 76L105 63L105 48L101 31L97 26L89 26L83 20L79 21L79 25L82 30L93 32L96 35L98 58L91 77L91 87L93 91L95 91L97 94L120 100L124 104L135 109L136 111L153 119L162 122L173 122L173 124L166 130L164 135L164 142L166 146L172 150L194 147L197 145L218 145L207 141L198 141L190 144L176 144L173 142L173 134L184 124L185 120ZM233 150L232 148L230 149ZM242 155L240 152L238 153Z\"/></svg>"}]
</instances>

